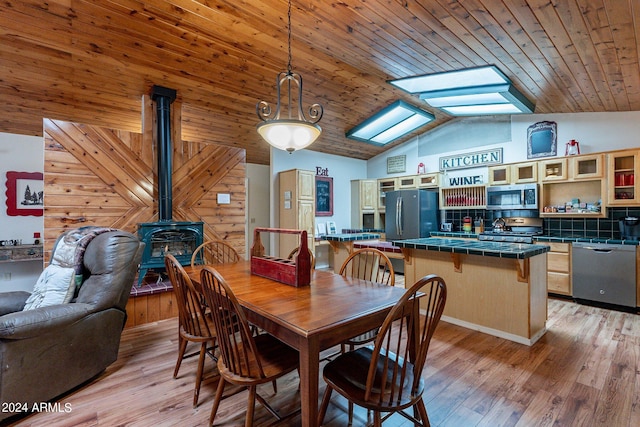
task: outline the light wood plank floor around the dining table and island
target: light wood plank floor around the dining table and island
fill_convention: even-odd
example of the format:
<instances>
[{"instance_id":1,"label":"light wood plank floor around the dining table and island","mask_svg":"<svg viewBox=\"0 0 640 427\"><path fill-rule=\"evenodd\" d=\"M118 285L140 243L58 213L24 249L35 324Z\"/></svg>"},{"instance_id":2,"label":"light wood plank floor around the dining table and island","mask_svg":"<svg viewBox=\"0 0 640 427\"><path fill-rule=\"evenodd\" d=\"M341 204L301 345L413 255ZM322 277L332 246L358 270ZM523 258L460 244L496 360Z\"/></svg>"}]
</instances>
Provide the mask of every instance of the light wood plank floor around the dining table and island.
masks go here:
<instances>
[{"instance_id":1,"label":"light wood plank floor around the dining table and island","mask_svg":"<svg viewBox=\"0 0 640 427\"><path fill-rule=\"evenodd\" d=\"M118 361L59 400L70 412L39 413L10 425L206 425L216 385L213 363L208 361L200 405L193 409L195 359L172 378L176 329L176 320L166 320L126 330ZM432 426L638 426L640 317L551 299L548 332L532 347L441 322L424 377ZM262 393L287 412L298 404L297 386L294 372L279 381L276 396L270 385ZM225 400L216 425L242 425L245 399L241 392ZM326 425L344 426L345 402L334 402ZM354 425L363 425L365 412L356 415ZM258 404L256 425L272 420ZM385 424L408 425L399 416Z\"/></svg>"}]
</instances>

